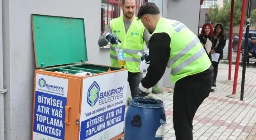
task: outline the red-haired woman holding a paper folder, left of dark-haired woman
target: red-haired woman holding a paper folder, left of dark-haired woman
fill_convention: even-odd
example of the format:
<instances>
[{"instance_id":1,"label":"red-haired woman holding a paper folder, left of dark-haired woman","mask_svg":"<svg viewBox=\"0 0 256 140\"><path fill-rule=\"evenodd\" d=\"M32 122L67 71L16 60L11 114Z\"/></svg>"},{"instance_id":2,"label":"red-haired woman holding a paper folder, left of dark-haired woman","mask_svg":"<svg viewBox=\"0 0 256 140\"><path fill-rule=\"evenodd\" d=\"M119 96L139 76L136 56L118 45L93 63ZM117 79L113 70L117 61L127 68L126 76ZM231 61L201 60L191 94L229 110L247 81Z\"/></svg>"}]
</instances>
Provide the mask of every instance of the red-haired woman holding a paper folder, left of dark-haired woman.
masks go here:
<instances>
[{"instance_id":1,"label":"red-haired woman holding a paper folder, left of dark-haired woman","mask_svg":"<svg viewBox=\"0 0 256 140\"><path fill-rule=\"evenodd\" d=\"M213 49L213 41L214 41L214 37L212 37L212 34L213 34L212 25L209 23L206 23L203 25L201 34L198 36L200 42L202 43L211 61L212 61L212 56L210 52ZM214 89L211 89L210 92L214 92Z\"/></svg>"}]
</instances>

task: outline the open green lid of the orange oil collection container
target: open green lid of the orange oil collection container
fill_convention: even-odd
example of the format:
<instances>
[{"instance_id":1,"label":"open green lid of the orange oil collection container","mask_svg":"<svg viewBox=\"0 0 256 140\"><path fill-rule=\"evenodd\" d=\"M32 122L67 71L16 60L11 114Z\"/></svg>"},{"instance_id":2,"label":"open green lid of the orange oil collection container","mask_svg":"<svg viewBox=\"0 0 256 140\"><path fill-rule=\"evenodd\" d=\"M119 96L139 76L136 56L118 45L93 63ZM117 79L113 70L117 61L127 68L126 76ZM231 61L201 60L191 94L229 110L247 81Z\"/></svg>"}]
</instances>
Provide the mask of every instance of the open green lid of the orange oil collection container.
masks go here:
<instances>
[{"instance_id":1,"label":"open green lid of the orange oil collection container","mask_svg":"<svg viewBox=\"0 0 256 140\"><path fill-rule=\"evenodd\" d=\"M31 23L37 68L88 61L84 19L32 14Z\"/></svg>"}]
</instances>

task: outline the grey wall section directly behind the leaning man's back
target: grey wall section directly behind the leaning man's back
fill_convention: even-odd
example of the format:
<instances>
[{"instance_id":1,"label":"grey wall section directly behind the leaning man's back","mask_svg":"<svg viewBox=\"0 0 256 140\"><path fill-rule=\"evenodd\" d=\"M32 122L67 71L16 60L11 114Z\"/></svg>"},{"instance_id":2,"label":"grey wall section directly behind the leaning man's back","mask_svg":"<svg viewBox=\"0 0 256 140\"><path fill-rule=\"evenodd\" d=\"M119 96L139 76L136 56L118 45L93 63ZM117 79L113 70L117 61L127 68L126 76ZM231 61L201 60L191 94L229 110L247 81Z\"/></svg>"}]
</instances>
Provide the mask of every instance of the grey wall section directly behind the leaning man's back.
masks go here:
<instances>
[{"instance_id":1,"label":"grey wall section directly behind the leaning man's back","mask_svg":"<svg viewBox=\"0 0 256 140\"><path fill-rule=\"evenodd\" d=\"M194 32L194 34L197 35L199 24L200 0L197 0L193 3L188 1L189 0L180 0L178 2L172 2L168 0L167 18L175 19L184 23L192 32ZM170 72L170 69L165 70L165 74L163 76L163 86L174 87L174 85L170 82Z\"/></svg>"}]
</instances>

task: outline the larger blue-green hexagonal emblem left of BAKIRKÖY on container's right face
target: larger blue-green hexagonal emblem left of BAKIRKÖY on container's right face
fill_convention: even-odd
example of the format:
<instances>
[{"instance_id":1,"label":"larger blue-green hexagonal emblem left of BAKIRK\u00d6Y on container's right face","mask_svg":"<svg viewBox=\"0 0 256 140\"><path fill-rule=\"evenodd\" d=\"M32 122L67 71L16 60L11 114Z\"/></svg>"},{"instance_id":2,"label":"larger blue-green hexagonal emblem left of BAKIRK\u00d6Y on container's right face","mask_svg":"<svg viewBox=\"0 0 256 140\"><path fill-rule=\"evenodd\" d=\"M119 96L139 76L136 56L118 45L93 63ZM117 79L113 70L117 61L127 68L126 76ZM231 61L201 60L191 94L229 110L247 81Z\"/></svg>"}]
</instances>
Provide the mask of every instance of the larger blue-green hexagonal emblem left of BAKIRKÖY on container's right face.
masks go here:
<instances>
[{"instance_id":1,"label":"larger blue-green hexagonal emblem left of BAKIRK\u00d6Y on container's right face","mask_svg":"<svg viewBox=\"0 0 256 140\"><path fill-rule=\"evenodd\" d=\"M87 92L87 103L93 107L99 99L100 86L96 81L92 83Z\"/></svg>"}]
</instances>

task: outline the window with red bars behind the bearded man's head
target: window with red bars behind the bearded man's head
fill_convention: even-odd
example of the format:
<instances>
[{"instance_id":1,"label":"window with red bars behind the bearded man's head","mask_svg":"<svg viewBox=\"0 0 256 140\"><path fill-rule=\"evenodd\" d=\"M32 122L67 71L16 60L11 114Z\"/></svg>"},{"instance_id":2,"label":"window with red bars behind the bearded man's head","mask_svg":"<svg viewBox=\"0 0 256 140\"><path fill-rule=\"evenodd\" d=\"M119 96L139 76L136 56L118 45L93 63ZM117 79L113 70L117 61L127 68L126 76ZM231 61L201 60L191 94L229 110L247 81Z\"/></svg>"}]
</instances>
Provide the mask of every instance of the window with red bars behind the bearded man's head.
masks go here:
<instances>
[{"instance_id":1,"label":"window with red bars behind the bearded man's head","mask_svg":"<svg viewBox=\"0 0 256 140\"><path fill-rule=\"evenodd\" d=\"M136 12L140 6L146 2L146 0L136 0ZM123 14L121 9L121 0L101 0L101 24L100 24L100 31L103 34L105 27L110 22L111 19L117 18Z\"/></svg>"}]
</instances>

